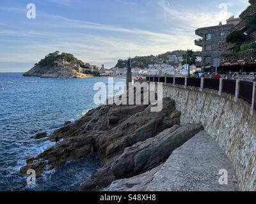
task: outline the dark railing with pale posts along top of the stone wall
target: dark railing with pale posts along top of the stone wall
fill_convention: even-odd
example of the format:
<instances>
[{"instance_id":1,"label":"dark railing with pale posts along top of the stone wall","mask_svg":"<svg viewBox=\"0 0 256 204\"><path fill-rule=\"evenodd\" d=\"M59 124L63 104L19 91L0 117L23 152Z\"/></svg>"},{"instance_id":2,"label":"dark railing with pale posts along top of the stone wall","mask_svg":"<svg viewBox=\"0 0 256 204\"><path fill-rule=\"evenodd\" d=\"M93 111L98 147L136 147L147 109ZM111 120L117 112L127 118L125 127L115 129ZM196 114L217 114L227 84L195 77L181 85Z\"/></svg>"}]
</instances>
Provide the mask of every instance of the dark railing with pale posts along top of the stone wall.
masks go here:
<instances>
[{"instance_id":1,"label":"dark railing with pale posts along top of the stone wall","mask_svg":"<svg viewBox=\"0 0 256 204\"><path fill-rule=\"evenodd\" d=\"M163 82L172 85L184 85L184 87L200 87L200 91L204 89L212 89L218 91L221 96L222 92L232 94L234 101L238 98L247 101L252 105L250 113L253 115L256 109L256 82L244 82L241 80L223 80L222 78L182 78L182 77L147 77L148 82Z\"/></svg>"}]
</instances>

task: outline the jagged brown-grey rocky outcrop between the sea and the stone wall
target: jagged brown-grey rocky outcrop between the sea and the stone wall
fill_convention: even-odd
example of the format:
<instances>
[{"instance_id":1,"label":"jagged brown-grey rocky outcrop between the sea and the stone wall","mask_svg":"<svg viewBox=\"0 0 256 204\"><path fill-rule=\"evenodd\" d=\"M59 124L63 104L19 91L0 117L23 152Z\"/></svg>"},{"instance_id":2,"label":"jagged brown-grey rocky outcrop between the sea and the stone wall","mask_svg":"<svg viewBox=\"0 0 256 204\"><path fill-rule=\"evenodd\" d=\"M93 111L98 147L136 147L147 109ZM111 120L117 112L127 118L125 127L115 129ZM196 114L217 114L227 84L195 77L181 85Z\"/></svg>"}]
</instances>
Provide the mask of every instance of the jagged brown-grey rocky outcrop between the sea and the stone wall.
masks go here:
<instances>
[{"instance_id":1,"label":"jagged brown-grey rocky outcrop between the sea and the stone wall","mask_svg":"<svg viewBox=\"0 0 256 204\"><path fill-rule=\"evenodd\" d=\"M20 169L40 177L67 161L95 155L100 170L79 187L80 191L101 191L115 180L154 171L177 149L204 129L200 124L180 126L175 101L164 98L163 110L151 112L151 105L102 105L74 123L67 123L49 136L63 138L61 143L27 159Z\"/></svg>"}]
</instances>

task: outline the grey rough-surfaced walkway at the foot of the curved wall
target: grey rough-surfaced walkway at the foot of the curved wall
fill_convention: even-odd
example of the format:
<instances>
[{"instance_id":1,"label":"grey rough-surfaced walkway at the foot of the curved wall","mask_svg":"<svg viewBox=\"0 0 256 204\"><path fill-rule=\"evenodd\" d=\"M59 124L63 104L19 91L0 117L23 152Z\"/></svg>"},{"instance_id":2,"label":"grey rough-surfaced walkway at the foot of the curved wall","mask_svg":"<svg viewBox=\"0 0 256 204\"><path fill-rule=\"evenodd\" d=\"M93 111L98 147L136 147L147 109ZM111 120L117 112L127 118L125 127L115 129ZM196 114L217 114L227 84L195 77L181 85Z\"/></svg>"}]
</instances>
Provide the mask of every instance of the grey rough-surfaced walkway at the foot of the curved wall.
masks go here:
<instances>
[{"instance_id":1,"label":"grey rough-surfaced walkway at the foot of the curved wall","mask_svg":"<svg viewBox=\"0 0 256 204\"><path fill-rule=\"evenodd\" d=\"M227 170L228 184L220 185L220 170ZM234 167L205 131L176 149L157 171L146 191L239 191Z\"/></svg>"}]
</instances>

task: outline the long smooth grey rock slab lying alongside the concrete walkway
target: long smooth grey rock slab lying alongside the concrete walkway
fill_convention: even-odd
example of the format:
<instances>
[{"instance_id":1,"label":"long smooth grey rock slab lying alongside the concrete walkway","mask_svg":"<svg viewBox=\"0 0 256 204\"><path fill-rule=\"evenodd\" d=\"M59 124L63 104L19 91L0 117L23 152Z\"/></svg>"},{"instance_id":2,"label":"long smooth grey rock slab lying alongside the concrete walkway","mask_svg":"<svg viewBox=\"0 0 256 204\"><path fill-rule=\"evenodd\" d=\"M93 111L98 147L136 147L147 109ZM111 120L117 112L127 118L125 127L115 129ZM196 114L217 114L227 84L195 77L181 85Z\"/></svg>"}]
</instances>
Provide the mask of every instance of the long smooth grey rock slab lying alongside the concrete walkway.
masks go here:
<instances>
[{"instance_id":1,"label":"long smooth grey rock slab lying alongside the concrete walkway","mask_svg":"<svg viewBox=\"0 0 256 204\"><path fill-rule=\"evenodd\" d=\"M203 129L201 124L186 124L165 129L162 133L124 150L111 169L115 177L132 177L151 170L168 159L173 150Z\"/></svg>"}]
</instances>

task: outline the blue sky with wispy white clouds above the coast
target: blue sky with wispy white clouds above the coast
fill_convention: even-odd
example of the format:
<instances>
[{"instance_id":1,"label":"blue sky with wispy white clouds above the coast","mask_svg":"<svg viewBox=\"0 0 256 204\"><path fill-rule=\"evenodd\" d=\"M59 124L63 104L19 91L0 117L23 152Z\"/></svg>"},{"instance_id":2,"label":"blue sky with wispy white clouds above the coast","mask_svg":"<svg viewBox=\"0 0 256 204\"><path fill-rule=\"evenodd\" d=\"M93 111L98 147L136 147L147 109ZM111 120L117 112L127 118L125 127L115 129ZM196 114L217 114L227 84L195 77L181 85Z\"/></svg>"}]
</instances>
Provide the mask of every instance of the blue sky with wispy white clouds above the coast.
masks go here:
<instances>
[{"instance_id":1,"label":"blue sky with wispy white clouds above the coast","mask_svg":"<svg viewBox=\"0 0 256 204\"><path fill-rule=\"evenodd\" d=\"M29 3L36 8L32 19ZM248 5L248 0L0 0L0 72L28 71L57 50L106 68L129 55L197 51L197 28L225 24Z\"/></svg>"}]
</instances>

